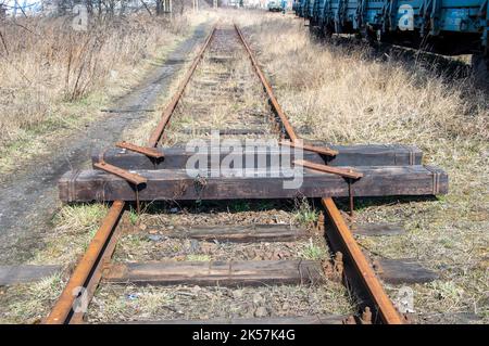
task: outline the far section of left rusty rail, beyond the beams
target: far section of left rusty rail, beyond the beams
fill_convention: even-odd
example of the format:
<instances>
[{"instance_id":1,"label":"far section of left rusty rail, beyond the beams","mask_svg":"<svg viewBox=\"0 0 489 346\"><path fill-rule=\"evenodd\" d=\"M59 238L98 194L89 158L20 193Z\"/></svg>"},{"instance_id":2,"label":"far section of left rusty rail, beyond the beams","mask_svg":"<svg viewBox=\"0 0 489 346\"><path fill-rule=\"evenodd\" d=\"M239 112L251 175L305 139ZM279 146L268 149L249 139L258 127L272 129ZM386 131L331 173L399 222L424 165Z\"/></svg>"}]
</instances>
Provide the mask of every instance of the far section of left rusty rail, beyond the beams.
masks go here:
<instances>
[{"instance_id":1,"label":"far section of left rusty rail, beyond the beams","mask_svg":"<svg viewBox=\"0 0 489 346\"><path fill-rule=\"evenodd\" d=\"M150 140L148 142L148 146L155 148L158 146L158 143L160 142L161 137L163 136L163 131L165 130L166 126L168 125L170 118L173 115L173 112L175 112L175 108L178 104L178 102L181 99L181 95L184 94L184 91L190 81L190 78L192 77L197 66L199 65L200 61L203 57L203 54L205 50L209 47L209 43L211 42L212 38L214 37L215 33L215 26L213 26L211 34L209 35L208 39L205 40L205 43L203 44L202 49L199 51L199 54L195 59L192 65L190 66L190 69L187 72L187 74L184 77L184 80L178 86L177 92L173 97L172 101L166 105L165 110L162 113L162 118L160 123L158 124L156 128L154 129L153 133L150 137Z\"/></svg>"}]
</instances>

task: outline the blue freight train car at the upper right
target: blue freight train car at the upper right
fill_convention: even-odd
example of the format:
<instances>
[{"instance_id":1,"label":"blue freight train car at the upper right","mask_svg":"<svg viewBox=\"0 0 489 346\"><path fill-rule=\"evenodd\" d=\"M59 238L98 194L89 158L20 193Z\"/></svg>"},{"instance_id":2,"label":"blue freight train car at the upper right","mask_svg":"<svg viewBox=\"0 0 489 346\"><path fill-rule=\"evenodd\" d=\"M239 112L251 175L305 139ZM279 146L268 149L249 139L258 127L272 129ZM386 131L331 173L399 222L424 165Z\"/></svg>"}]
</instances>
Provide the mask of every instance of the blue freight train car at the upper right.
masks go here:
<instances>
[{"instance_id":1,"label":"blue freight train car at the upper right","mask_svg":"<svg viewBox=\"0 0 489 346\"><path fill-rule=\"evenodd\" d=\"M446 54L474 54L479 75L489 71L489 0L297 0L296 14L319 36L358 34Z\"/></svg>"}]
</instances>

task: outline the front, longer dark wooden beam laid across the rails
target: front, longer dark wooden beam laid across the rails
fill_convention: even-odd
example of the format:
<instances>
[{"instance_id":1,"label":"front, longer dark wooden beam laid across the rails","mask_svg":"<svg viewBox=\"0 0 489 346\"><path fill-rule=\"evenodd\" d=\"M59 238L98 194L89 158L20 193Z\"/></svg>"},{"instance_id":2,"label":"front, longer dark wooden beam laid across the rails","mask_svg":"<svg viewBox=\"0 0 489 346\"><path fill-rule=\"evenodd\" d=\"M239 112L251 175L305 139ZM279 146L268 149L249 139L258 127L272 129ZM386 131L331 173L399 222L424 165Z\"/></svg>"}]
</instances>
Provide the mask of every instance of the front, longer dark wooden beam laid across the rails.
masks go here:
<instances>
[{"instance_id":1,"label":"front, longer dark wooden beam laid across the rails","mask_svg":"<svg viewBox=\"0 0 489 346\"><path fill-rule=\"evenodd\" d=\"M364 177L352 183L355 196L437 195L448 192L448 177L434 167L355 167ZM305 169L297 185L277 171L256 171L251 177L236 172L202 172L191 178L183 169L138 170L148 179L140 187L140 201L196 201L241 198L293 198L297 196L348 196L341 177ZM260 175L264 174L265 177ZM213 177L214 176L214 177ZM302 180L302 181L301 181ZM289 185L287 185L289 184ZM296 188L299 187L299 188ZM97 170L70 171L59 182L62 202L135 201L134 187L116 176Z\"/></svg>"}]
</instances>

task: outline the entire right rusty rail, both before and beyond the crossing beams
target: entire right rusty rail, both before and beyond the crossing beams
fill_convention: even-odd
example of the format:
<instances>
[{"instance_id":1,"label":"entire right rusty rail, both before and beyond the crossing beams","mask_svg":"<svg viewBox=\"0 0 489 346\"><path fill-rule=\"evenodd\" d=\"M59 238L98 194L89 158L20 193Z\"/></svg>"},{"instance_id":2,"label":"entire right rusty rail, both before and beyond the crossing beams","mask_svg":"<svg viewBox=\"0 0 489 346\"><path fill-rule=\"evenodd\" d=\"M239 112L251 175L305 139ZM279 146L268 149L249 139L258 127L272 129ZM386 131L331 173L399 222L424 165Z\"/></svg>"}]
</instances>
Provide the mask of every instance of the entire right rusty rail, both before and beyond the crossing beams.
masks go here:
<instances>
[{"instance_id":1,"label":"entire right rusty rail, both before and beyond the crossing beams","mask_svg":"<svg viewBox=\"0 0 489 346\"><path fill-rule=\"evenodd\" d=\"M252 50L250 49L250 46L246 41L241 30L239 27L235 24L236 31L238 33L238 36L240 37L242 44L246 47L248 54L250 55L250 60L253 63L253 66L260 76L260 80L263 84L263 87L266 90L266 93L268 94L268 98L272 102L272 105L275 108L275 112L279 116L280 120L283 121L283 125L285 127L285 130L287 131L287 134L291 139L292 143L299 140L299 136L293 130L292 126L290 125L287 115L285 114L284 110L278 104L277 99L275 98L273 93L273 89L268 80L266 79L265 75L261 71L256 59L254 57L254 54ZM344 219L342 218L341 214L338 210L338 207L336 206L335 202L331 197L324 197L322 198L322 204L326 208L326 212L341 240L341 242L344 245L344 249L347 252L347 255L351 258L353 262L353 267L355 271L361 277L361 280L363 281L365 289L371 296L373 303L376 305L376 308L378 309L378 312L380 315L380 318L384 323L386 324L402 324L403 321L398 313L396 307L392 304L392 300L390 300L389 296L387 295L386 291L384 290L380 281L376 277L373 268L368 264L368 260L362 253L359 244L353 238L353 234L351 230L348 228L347 222L344 222Z\"/></svg>"}]
</instances>

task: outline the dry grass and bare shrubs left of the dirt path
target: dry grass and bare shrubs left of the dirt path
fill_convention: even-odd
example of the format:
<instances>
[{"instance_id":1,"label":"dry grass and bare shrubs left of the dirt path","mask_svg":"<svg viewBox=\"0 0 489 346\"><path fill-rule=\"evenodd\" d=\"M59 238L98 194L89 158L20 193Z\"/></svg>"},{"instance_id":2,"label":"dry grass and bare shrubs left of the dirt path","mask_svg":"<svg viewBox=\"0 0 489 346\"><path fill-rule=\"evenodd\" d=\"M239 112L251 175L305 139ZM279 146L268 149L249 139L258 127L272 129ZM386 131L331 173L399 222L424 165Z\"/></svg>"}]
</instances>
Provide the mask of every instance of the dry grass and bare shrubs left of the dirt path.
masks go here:
<instances>
[{"instance_id":1,"label":"dry grass and bare shrubs left of the dirt path","mask_svg":"<svg viewBox=\"0 0 489 346\"><path fill-rule=\"evenodd\" d=\"M67 18L4 22L0 48L2 170L48 152L47 140L80 130L110 99L134 87L150 63L188 35L193 17L131 15L75 31Z\"/></svg>"}]
</instances>

